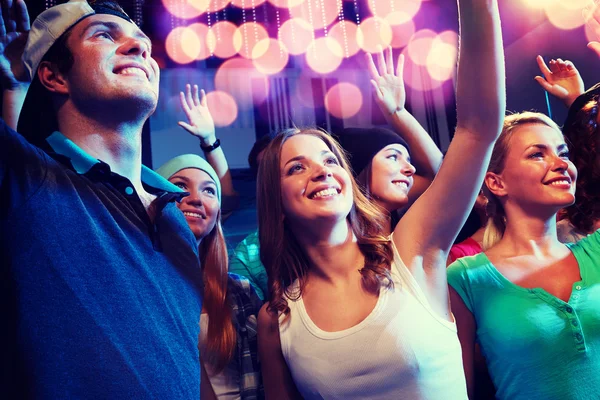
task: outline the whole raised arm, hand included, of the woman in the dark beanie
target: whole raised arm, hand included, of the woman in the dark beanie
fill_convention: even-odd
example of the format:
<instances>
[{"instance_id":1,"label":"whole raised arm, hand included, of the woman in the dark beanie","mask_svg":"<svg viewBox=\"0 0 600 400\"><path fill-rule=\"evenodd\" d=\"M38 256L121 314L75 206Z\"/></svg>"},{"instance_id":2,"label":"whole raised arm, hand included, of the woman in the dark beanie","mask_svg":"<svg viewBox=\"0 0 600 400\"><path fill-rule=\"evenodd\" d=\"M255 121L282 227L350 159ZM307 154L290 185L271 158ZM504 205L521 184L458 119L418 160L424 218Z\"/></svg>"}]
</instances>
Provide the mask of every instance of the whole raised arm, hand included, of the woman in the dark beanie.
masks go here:
<instances>
[{"instance_id":1,"label":"whole raised arm, hand included, of the woman in the dark beanie","mask_svg":"<svg viewBox=\"0 0 600 400\"><path fill-rule=\"evenodd\" d=\"M379 109L388 124L410 146L411 162L417 173L409 197L414 201L429 187L442 163L442 152L436 146L431 136L423 129L405 108L406 89L402 78L404 73L404 55L398 57L394 68L392 48L388 47L377 55L375 66L373 56L366 55L373 94ZM411 202L412 202L411 201Z\"/></svg>"}]
</instances>

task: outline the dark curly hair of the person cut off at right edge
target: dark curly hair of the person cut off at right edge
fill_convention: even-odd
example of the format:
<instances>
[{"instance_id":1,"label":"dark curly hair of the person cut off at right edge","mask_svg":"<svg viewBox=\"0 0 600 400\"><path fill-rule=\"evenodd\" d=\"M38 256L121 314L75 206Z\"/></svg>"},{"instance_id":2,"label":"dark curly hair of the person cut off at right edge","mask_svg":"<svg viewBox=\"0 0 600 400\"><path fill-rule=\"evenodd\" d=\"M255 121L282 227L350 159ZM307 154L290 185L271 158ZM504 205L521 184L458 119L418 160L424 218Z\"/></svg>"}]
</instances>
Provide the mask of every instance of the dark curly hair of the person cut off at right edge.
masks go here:
<instances>
[{"instance_id":1,"label":"dark curly hair of the person cut off at right edge","mask_svg":"<svg viewBox=\"0 0 600 400\"><path fill-rule=\"evenodd\" d=\"M591 233L594 223L600 220L600 128L598 127L598 101L596 94L563 127L569 142L570 158L577 168L575 203L567 207L565 214L573 226Z\"/></svg>"}]
</instances>

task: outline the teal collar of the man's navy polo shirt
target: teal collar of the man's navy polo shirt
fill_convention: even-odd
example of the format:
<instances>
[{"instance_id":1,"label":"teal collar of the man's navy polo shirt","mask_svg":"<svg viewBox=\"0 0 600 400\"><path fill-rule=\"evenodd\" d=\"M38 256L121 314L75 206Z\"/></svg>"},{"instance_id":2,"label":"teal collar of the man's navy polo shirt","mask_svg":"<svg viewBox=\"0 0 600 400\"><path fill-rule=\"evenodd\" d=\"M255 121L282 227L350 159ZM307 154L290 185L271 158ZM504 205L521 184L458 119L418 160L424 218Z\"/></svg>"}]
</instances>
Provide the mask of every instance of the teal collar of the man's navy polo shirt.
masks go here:
<instances>
[{"instance_id":1,"label":"teal collar of the man's navy polo shirt","mask_svg":"<svg viewBox=\"0 0 600 400\"><path fill-rule=\"evenodd\" d=\"M100 160L90 156L81 147L58 131L48 136L46 141L55 153L67 157L71 161L75 172L80 175L89 172L94 165L100 163ZM142 183L165 192L185 193L180 187L173 185L144 165L142 165Z\"/></svg>"}]
</instances>

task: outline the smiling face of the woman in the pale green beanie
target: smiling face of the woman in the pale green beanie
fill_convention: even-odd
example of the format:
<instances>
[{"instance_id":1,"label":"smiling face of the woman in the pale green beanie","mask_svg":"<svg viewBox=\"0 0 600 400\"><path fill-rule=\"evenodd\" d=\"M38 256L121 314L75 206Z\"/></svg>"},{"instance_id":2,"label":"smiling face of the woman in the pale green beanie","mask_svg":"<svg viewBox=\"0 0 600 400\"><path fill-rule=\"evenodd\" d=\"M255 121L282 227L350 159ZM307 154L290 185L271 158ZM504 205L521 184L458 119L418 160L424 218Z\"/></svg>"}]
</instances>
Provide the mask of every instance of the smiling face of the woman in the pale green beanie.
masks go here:
<instances>
[{"instance_id":1,"label":"smiling face of the woman in the pale green beanie","mask_svg":"<svg viewBox=\"0 0 600 400\"><path fill-rule=\"evenodd\" d=\"M219 216L219 199L217 186L204 171L186 168L169 178L169 182L189 192L177 205L183 212L185 220L200 242L214 229Z\"/></svg>"}]
</instances>

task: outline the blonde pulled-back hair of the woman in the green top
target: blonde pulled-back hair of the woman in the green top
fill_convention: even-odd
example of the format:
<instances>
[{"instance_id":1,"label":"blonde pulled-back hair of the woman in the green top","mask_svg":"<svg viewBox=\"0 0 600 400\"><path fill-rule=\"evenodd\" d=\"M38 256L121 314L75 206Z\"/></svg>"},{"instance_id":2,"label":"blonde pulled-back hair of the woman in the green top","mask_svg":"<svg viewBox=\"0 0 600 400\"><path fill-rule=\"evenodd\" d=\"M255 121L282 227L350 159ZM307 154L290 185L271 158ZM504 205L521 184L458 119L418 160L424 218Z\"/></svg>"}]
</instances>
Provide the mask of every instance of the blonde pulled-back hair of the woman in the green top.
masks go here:
<instances>
[{"instance_id":1,"label":"blonde pulled-back hair of the woman in the green top","mask_svg":"<svg viewBox=\"0 0 600 400\"><path fill-rule=\"evenodd\" d=\"M504 170L511 138L518 128L527 124L546 125L560 132L558 125L544 114L525 111L506 116L506 118L504 118L502 132L500 133L498 140L496 140L494 150L492 151L492 158L487 169L488 172L500 174ZM504 207L502 207L500 200L486 185L483 185L483 193L488 199L485 208L488 221L483 235L483 249L487 250L502 239L504 230L506 229L506 213L504 212Z\"/></svg>"}]
</instances>

